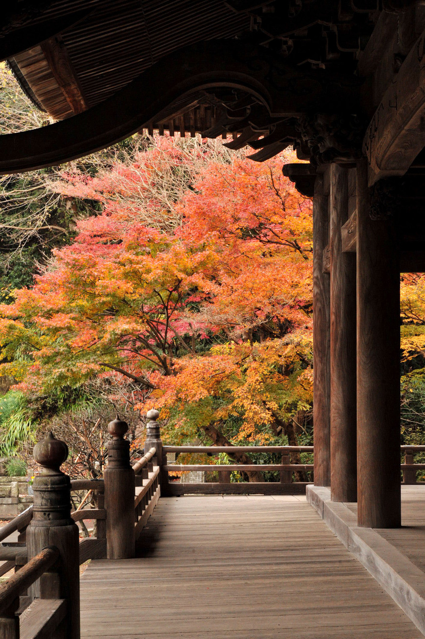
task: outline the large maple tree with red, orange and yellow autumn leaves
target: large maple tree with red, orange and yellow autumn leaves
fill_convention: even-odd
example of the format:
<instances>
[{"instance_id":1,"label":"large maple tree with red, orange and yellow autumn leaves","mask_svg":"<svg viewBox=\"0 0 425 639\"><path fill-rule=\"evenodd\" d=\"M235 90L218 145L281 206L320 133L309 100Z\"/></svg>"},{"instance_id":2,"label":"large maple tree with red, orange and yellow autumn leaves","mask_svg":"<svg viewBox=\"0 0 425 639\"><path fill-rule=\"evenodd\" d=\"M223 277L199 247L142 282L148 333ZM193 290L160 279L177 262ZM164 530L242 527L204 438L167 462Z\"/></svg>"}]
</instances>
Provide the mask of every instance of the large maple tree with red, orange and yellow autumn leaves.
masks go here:
<instances>
[{"instance_id":1,"label":"large maple tree with red, orange and yellow autumn leaves","mask_svg":"<svg viewBox=\"0 0 425 639\"><path fill-rule=\"evenodd\" d=\"M294 443L312 401L311 203L282 157L189 150L163 138L56 180L103 210L1 307L3 372L32 394L123 374L169 438Z\"/></svg>"}]
</instances>

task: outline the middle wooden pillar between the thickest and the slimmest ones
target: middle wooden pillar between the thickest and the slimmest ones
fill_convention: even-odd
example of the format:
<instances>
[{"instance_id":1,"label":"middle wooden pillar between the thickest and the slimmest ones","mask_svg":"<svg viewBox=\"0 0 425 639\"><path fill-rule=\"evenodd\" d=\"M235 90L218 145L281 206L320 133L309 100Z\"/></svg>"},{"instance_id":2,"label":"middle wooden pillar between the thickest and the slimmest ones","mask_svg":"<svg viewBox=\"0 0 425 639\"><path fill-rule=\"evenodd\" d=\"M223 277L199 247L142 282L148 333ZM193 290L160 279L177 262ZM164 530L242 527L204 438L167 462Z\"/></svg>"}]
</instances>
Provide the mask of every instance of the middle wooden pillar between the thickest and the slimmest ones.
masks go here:
<instances>
[{"instance_id":1,"label":"middle wooden pillar between the thickest and the slimmest ones","mask_svg":"<svg viewBox=\"0 0 425 639\"><path fill-rule=\"evenodd\" d=\"M348 169L331 165L331 499L357 501L355 253L343 253Z\"/></svg>"}]
</instances>

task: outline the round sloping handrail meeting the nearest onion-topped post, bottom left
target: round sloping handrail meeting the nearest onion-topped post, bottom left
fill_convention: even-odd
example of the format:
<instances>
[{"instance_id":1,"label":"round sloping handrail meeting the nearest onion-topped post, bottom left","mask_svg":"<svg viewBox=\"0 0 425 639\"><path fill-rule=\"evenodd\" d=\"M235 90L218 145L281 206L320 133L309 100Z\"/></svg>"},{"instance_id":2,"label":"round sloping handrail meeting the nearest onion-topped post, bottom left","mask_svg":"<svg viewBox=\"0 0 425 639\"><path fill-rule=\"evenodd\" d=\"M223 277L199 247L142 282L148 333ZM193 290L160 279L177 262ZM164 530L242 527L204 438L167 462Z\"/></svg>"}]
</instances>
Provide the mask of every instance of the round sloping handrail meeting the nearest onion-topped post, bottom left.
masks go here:
<instances>
[{"instance_id":1,"label":"round sloping handrail meeting the nearest onion-topped post, bottom left","mask_svg":"<svg viewBox=\"0 0 425 639\"><path fill-rule=\"evenodd\" d=\"M0 587L0 615L8 611L23 590L33 585L59 558L56 546L47 546Z\"/></svg>"}]
</instances>

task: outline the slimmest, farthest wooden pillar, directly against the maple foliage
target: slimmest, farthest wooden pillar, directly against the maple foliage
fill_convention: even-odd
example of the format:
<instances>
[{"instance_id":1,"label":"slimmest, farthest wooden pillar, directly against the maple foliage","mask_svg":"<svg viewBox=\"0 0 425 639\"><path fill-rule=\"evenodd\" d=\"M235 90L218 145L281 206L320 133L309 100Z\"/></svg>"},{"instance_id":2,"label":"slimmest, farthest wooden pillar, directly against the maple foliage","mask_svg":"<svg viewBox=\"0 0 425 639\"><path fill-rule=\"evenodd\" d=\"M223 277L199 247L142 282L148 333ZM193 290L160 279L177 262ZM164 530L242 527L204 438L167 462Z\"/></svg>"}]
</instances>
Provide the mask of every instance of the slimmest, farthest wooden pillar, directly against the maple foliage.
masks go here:
<instances>
[{"instance_id":1,"label":"slimmest, farthest wooden pillar, directly against the maple foliage","mask_svg":"<svg viewBox=\"0 0 425 639\"><path fill-rule=\"evenodd\" d=\"M324 273L323 252L329 241L328 198L323 176L315 181L313 197L313 422L316 486L331 485L331 358L329 273Z\"/></svg>"}]
</instances>

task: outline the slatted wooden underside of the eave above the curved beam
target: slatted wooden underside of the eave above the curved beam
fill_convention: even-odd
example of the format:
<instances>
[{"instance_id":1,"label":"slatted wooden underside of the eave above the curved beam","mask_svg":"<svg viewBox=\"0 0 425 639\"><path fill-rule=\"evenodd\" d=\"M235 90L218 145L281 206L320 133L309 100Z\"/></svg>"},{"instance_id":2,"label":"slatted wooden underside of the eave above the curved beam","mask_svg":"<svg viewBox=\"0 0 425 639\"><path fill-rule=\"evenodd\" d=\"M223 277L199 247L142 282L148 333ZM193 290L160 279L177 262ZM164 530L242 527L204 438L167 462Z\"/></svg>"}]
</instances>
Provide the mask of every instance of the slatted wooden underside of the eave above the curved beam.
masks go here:
<instances>
[{"instance_id":1,"label":"slatted wooden underside of the eave above the curved beam","mask_svg":"<svg viewBox=\"0 0 425 639\"><path fill-rule=\"evenodd\" d=\"M77 24L8 59L22 89L54 119L103 102L182 45L232 38L250 27L246 13L235 13L221 0L60 0L44 18L65 10L77 13ZM211 109L192 109L166 128L184 134L213 122Z\"/></svg>"}]
</instances>

